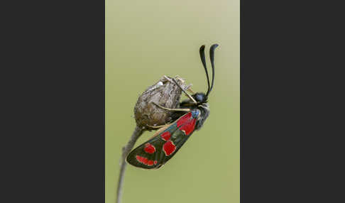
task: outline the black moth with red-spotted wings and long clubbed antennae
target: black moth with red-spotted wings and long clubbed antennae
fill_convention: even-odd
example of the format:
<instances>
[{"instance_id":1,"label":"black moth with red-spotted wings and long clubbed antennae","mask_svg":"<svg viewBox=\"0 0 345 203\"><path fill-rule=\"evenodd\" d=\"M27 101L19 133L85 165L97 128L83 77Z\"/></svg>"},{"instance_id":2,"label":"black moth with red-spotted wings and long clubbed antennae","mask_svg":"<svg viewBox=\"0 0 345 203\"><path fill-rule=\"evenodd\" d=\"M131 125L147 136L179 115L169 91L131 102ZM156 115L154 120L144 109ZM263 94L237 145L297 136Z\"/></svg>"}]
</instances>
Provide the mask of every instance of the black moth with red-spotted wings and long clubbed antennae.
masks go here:
<instances>
[{"instance_id":1,"label":"black moth with red-spotted wings and long clubbed antennae","mask_svg":"<svg viewBox=\"0 0 345 203\"><path fill-rule=\"evenodd\" d=\"M182 89L182 92L189 98L180 102L179 109L168 109L164 106L159 106L167 111L172 111L172 123L165 126L156 126L158 131L145 143L133 149L128 154L127 163L144 169L158 169L165 165L170 158L172 158L178 150L185 144L188 138L192 136L194 131L199 130L204 121L209 116L209 104L207 98L212 91L214 84L214 50L217 48L214 44L209 49L209 58L212 65L212 83L209 84L209 74L207 72L204 48L202 45L199 48L199 54L206 72L207 77L207 92L197 92L195 94L188 94L185 89L180 87L175 80L174 82Z\"/></svg>"}]
</instances>

